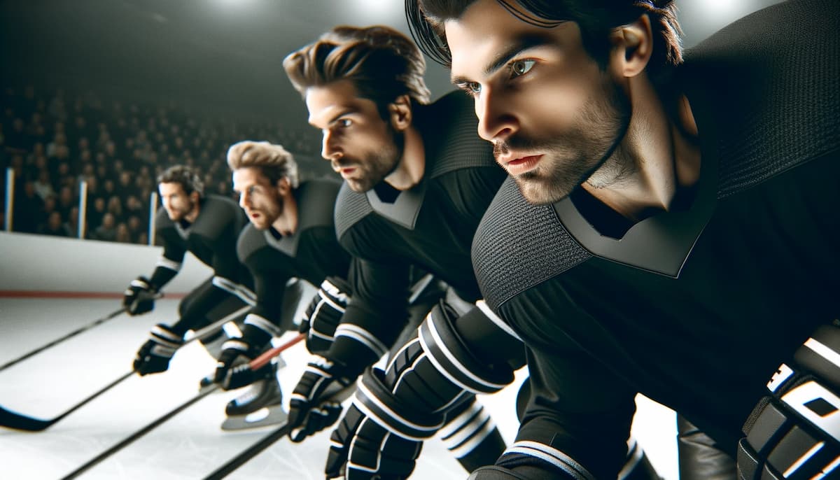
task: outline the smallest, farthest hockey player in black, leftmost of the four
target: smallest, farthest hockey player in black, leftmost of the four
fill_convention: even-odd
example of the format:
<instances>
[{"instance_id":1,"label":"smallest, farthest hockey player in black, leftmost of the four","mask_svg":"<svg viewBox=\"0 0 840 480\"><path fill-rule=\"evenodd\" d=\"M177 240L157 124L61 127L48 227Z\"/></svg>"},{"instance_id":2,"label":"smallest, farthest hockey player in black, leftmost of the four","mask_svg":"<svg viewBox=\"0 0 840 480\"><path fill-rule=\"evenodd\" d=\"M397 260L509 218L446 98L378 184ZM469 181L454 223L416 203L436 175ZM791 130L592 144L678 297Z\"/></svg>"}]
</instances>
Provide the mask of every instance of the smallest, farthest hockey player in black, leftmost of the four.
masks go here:
<instances>
[{"instance_id":1,"label":"smallest, farthest hockey player in black, leftmost of the four","mask_svg":"<svg viewBox=\"0 0 840 480\"><path fill-rule=\"evenodd\" d=\"M213 276L181 300L178 321L152 328L149 341L134 359L134 370L140 375L169 368L186 331L210 325L254 302L250 274L236 258L236 241L248 222L239 206L222 196L205 196L199 175L183 165L165 170L158 177L158 190L164 208L155 218L155 236L163 244L163 254L150 278L140 276L125 290L123 305L129 315L154 308L155 296L181 269L186 252L213 269ZM220 328L202 344L216 357L223 338Z\"/></svg>"}]
</instances>

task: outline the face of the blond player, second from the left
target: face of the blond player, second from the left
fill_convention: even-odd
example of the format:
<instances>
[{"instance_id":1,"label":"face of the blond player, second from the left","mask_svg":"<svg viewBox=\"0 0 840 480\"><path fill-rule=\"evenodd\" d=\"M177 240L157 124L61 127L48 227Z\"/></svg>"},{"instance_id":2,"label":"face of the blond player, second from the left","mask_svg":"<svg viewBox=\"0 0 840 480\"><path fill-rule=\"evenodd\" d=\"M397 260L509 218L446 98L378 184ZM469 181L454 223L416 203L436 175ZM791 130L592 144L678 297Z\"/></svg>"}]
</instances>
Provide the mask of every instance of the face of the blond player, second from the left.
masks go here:
<instances>
[{"instance_id":1,"label":"face of the blond player, second from the left","mask_svg":"<svg viewBox=\"0 0 840 480\"><path fill-rule=\"evenodd\" d=\"M239 206L260 230L270 227L283 213L280 192L258 169L235 170L234 191L239 193Z\"/></svg>"}]
</instances>

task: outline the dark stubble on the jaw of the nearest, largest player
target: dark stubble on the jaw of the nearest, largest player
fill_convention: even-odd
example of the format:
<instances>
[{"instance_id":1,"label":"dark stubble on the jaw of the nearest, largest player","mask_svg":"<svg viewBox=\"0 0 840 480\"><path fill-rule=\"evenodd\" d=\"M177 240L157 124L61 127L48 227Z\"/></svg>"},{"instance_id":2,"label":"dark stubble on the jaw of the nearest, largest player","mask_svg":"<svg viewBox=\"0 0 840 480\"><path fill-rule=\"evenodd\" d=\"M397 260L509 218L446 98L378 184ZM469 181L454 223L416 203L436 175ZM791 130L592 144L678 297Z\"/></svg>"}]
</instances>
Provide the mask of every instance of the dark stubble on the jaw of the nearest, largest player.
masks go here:
<instances>
[{"instance_id":1,"label":"dark stubble on the jaw of the nearest, largest player","mask_svg":"<svg viewBox=\"0 0 840 480\"><path fill-rule=\"evenodd\" d=\"M543 154L537 168L512 175L526 201L546 205L563 200L584 182L606 188L626 178L633 164L619 145L627 133L632 108L627 96L605 77L603 94L586 102L575 128L552 138L512 137L494 144L493 153L507 149Z\"/></svg>"}]
</instances>

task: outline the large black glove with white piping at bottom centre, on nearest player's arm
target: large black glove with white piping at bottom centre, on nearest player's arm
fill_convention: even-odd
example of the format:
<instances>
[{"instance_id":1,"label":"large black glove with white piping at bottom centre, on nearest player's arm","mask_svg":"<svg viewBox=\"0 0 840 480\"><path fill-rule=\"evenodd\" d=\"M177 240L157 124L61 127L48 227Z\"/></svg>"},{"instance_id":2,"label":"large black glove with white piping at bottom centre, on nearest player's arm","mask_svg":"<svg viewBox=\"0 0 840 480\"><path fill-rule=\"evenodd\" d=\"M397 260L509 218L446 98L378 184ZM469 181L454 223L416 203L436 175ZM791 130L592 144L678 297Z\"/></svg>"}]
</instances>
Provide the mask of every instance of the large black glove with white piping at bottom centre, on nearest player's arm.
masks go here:
<instances>
[{"instance_id":1,"label":"large black glove with white piping at bottom centre, on nearest player's arm","mask_svg":"<svg viewBox=\"0 0 840 480\"><path fill-rule=\"evenodd\" d=\"M381 380L381 370L365 372L353 403L330 436L328 478L402 480L411 475L423 440L443 425L443 415L429 415L400 404Z\"/></svg>"}]
</instances>

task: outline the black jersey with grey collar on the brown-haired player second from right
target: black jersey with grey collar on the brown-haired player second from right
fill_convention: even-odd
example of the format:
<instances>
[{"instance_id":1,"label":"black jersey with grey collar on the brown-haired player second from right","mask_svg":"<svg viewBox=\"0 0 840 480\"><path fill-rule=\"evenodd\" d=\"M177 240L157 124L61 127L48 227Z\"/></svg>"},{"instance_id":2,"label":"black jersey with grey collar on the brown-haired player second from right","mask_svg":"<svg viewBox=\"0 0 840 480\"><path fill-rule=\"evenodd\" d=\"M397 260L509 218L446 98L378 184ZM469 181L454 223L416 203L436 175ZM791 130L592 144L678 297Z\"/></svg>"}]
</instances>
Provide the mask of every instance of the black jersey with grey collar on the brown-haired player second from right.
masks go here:
<instances>
[{"instance_id":1,"label":"black jersey with grey collar on the brown-haired player second from right","mask_svg":"<svg viewBox=\"0 0 840 480\"><path fill-rule=\"evenodd\" d=\"M414 108L426 155L423 180L410 190L386 192L398 194L391 202L377 193L391 188L385 182L367 193L354 192L345 183L335 210L339 242L360 259L344 321L365 326L386 344L396 339L407 318L412 264L438 276L465 299L480 298L470 245L505 176L491 144L476 134L469 97L453 92Z\"/></svg>"}]
</instances>

